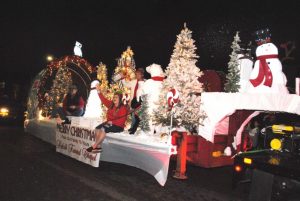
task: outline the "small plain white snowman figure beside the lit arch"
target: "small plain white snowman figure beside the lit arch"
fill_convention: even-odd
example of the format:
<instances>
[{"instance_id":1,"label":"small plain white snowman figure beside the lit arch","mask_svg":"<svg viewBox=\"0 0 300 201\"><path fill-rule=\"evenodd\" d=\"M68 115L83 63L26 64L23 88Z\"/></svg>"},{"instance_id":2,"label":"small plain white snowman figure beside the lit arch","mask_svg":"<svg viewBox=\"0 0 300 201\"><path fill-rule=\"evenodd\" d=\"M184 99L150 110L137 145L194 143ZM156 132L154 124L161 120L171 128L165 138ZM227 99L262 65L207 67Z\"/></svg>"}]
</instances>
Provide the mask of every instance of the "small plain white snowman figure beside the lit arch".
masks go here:
<instances>
[{"instance_id":1,"label":"small plain white snowman figure beside the lit arch","mask_svg":"<svg viewBox=\"0 0 300 201\"><path fill-rule=\"evenodd\" d=\"M88 118L101 118L102 117L102 108L101 100L97 92L97 86L99 85L98 80L94 80L91 83L91 90L86 104L86 109L84 117Z\"/></svg>"}]
</instances>

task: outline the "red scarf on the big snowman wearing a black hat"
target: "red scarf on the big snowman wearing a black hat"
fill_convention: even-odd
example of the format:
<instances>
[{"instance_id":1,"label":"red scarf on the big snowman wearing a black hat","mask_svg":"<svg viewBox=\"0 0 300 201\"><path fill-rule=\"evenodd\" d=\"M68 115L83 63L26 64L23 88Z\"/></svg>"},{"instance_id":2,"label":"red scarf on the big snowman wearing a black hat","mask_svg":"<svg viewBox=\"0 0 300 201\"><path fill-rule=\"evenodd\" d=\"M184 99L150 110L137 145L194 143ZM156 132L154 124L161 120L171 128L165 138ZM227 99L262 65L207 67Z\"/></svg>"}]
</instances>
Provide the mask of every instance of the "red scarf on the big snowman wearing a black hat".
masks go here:
<instances>
[{"instance_id":1,"label":"red scarf on the big snowman wearing a black hat","mask_svg":"<svg viewBox=\"0 0 300 201\"><path fill-rule=\"evenodd\" d=\"M257 87L262 83L265 78L264 85L271 87L273 82L272 72L267 64L266 59L278 58L277 54L263 55L257 57L259 60L259 72L255 79L251 79L250 82L254 87Z\"/></svg>"}]
</instances>

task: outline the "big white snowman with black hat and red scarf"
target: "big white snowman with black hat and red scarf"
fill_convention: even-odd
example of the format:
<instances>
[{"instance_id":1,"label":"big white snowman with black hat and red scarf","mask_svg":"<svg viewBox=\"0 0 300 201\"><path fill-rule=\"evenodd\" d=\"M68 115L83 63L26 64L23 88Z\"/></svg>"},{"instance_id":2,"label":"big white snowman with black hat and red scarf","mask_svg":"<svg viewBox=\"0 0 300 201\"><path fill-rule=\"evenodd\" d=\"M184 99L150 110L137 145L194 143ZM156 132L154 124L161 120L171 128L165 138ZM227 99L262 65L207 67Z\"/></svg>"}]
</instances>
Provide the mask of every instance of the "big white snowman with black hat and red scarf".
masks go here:
<instances>
[{"instance_id":1,"label":"big white snowman with black hat and red scarf","mask_svg":"<svg viewBox=\"0 0 300 201\"><path fill-rule=\"evenodd\" d=\"M250 75L247 91L288 94L287 80L278 59L278 49L270 42L269 30L260 30L256 34L260 37L256 40L259 45L256 49L257 60Z\"/></svg>"}]
</instances>

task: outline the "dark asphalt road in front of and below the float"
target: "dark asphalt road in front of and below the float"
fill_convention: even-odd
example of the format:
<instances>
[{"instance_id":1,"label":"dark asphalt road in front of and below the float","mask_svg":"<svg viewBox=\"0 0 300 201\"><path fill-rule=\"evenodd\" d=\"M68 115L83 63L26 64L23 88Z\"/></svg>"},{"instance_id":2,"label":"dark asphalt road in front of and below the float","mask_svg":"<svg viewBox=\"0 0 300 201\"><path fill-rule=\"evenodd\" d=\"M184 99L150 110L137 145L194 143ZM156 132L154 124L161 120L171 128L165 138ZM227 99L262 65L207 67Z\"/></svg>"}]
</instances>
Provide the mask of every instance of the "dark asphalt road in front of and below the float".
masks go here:
<instances>
[{"instance_id":1,"label":"dark asphalt road in front of and below the float","mask_svg":"<svg viewBox=\"0 0 300 201\"><path fill-rule=\"evenodd\" d=\"M187 180L172 178L160 186L148 173L126 165L100 162L99 168L55 152L55 147L0 125L0 200L246 200L248 189L231 189L231 167L187 167Z\"/></svg>"}]
</instances>

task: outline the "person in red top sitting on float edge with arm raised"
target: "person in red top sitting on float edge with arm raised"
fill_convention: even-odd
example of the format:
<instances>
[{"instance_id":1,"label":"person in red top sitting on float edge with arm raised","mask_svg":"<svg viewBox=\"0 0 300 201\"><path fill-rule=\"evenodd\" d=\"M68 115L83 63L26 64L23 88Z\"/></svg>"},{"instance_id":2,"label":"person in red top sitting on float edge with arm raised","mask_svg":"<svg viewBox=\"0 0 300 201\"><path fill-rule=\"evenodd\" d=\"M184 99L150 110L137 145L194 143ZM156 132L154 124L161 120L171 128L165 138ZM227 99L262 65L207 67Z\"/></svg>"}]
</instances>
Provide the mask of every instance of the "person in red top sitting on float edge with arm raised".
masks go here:
<instances>
[{"instance_id":1,"label":"person in red top sitting on float edge with arm raised","mask_svg":"<svg viewBox=\"0 0 300 201\"><path fill-rule=\"evenodd\" d=\"M101 144L106 137L106 133L119 133L124 131L125 122L128 115L127 106L122 103L122 94L115 93L112 100L108 100L99 91L102 103L107 107L107 121L96 127L96 141L87 148L88 152L101 152Z\"/></svg>"}]
</instances>

